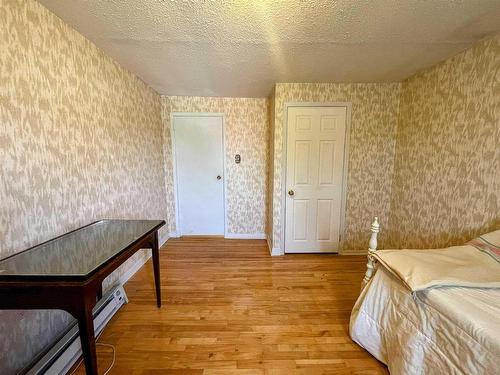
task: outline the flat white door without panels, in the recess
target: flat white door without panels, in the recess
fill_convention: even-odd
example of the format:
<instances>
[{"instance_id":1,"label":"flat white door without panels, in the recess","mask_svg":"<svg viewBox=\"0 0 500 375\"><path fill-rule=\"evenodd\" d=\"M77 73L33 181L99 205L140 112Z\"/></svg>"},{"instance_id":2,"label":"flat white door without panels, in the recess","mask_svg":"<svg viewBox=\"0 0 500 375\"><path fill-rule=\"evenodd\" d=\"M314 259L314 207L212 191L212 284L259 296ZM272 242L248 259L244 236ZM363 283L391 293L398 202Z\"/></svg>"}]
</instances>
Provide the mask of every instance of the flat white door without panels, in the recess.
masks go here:
<instances>
[{"instance_id":1,"label":"flat white door without panels, in the recess","mask_svg":"<svg viewBox=\"0 0 500 375\"><path fill-rule=\"evenodd\" d=\"M224 234L222 127L222 116L173 116L180 235Z\"/></svg>"}]
</instances>

